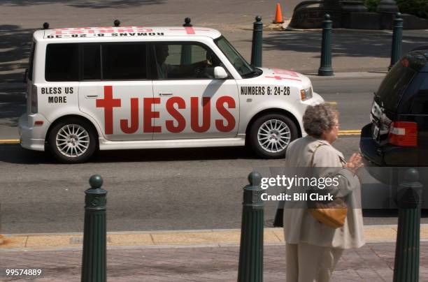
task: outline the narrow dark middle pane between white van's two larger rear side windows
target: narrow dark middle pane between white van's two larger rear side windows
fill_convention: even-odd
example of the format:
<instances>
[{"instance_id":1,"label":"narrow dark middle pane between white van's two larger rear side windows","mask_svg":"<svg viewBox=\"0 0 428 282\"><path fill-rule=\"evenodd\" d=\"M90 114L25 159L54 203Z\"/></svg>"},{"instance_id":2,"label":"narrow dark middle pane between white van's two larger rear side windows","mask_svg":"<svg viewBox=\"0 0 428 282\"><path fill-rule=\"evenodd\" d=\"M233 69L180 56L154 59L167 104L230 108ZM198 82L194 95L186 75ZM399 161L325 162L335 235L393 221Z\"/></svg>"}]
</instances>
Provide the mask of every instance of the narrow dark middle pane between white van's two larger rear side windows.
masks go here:
<instances>
[{"instance_id":1,"label":"narrow dark middle pane between white van's two larger rear side windows","mask_svg":"<svg viewBox=\"0 0 428 282\"><path fill-rule=\"evenodd\" d=\"M83 80L101 80L99 45L83 45Z\"/></svg>"}]
</instances>

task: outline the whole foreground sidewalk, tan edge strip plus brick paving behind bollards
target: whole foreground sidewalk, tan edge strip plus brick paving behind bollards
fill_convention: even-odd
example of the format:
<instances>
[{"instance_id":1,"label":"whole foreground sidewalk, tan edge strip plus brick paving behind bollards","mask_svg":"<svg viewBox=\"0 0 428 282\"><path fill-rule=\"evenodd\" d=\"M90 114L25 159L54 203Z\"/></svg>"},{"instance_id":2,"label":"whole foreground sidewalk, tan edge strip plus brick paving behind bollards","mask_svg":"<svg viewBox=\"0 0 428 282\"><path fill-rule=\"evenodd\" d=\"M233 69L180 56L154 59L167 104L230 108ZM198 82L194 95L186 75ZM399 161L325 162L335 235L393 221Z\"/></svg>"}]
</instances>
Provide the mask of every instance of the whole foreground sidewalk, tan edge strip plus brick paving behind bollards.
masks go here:
<instances>
[{"instance_id":1,"label":"whole foreground sidewalk, tan edge strip plus brick paving behind bollards","mask_svg":"<svg viewBox=\"0 0 428 282\"><path fill-rule=\"evenodd\" d=\"M396 225L364 227L366 246L345 251L331 281L392 281ZM240 230L108 232L109 281L236 281ZM421 225L420 281L428 281L428 225ZM80 281L82 234L6 235L1 281ZM282 228L264 230L264 281L285 281ZM5 278L5 269L43 275ZM26 280L27 279L27 280Z\"/></svg>"}]
</instances>

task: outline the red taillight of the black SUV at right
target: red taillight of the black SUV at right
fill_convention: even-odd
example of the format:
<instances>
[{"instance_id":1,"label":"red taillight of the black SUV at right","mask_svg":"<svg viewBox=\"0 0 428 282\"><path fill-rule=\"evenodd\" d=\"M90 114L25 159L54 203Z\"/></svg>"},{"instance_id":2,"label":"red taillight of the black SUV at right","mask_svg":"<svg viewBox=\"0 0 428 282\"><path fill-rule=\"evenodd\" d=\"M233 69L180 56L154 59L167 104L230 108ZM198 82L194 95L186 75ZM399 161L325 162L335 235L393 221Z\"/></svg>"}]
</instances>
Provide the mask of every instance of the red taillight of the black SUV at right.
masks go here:
<instances>
[{"instance_id":1,"label":"red taillight of the black SUV at right","mask_svg":"<svg viewBox=\"0 0 428 282\"><path fill-rule=\"evenodd\" d=\"M418 124L411 121L393 121L389 142L403 147L418 146Z\"/></svg>"}]
</instances>

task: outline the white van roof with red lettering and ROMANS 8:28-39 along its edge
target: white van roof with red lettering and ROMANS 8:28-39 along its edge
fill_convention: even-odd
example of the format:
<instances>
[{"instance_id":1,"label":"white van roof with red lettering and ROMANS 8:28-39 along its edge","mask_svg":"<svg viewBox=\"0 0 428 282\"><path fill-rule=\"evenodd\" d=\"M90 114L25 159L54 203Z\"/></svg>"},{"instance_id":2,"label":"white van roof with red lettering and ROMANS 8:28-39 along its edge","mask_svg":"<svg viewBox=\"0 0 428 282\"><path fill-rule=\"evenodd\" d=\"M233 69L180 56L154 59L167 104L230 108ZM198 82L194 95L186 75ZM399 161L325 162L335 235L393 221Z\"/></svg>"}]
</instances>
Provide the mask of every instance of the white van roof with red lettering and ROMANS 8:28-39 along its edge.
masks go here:
<instances>
[{"instance_id":1,"label":"white van roof with red lettering and ROMANS 8:28-39 along its edge","mask_svg":"<svg viewBox=\"0 0 428 282\"><path fill-rule=\"evenodd\" d=\"M82 34L85 36L80 36ZM213 39L221 36L216 29L206 27L69 27L38 30L34 32L34 39L99 38L101 37L100 34L104 34L102 37L208 36Z\"/></svg>"}]
</instances>

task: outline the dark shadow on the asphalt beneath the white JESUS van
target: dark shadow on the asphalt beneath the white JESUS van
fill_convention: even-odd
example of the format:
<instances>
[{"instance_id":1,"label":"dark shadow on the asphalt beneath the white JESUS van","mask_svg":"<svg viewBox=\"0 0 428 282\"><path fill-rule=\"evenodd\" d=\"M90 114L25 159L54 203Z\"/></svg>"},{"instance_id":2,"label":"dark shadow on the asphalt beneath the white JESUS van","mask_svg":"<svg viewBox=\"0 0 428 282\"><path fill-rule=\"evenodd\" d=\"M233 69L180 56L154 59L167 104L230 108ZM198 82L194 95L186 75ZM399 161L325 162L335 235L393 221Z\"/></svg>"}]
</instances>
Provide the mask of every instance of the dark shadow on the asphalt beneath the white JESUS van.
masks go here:
<instances>
[{"instance_id":1,"label":"dark shadow on the asphalt beneath the white JESUS van","mask_svg":"<svg viewBox=\"0 0 428 282\"><path fill-rule=\"evenodd\" d=\"M245 147L213 147L184 149L136 149L97 151L89 163L129 163L154 161L213 161L257 159ZM62 164L48 152L24 149L20 144L0 144L0 162L25 165Z\"/></svg>"}]
</instances>

